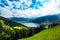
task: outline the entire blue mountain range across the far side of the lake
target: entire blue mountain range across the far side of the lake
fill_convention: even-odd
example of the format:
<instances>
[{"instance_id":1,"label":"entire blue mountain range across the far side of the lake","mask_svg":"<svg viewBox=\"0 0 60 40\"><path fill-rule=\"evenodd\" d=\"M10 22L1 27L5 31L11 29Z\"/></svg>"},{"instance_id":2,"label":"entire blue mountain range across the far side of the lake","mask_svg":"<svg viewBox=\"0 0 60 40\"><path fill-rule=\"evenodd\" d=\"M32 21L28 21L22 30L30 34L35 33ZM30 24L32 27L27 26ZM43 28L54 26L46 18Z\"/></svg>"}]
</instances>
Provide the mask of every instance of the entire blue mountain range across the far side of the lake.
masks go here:
<instances>
[{"instance_id":1,"label":"entire blue mountain range across the far side of the lake","mask_svg":"<svg viewBox=\"0 0 60 40\"><path fill-rule=\"evenodd\" d=\"M37 17L37 18L17 18L17 17L12 17L12 18L8 18L12 21L16 21L16 22L32 22L32 23L42 23L45 21L50 21L50 22L55 22L55 21L60 21L60 14L56 14L56 15L47 15L47 16L42 16L42 17Z\"/></svg>"}]
</instances>

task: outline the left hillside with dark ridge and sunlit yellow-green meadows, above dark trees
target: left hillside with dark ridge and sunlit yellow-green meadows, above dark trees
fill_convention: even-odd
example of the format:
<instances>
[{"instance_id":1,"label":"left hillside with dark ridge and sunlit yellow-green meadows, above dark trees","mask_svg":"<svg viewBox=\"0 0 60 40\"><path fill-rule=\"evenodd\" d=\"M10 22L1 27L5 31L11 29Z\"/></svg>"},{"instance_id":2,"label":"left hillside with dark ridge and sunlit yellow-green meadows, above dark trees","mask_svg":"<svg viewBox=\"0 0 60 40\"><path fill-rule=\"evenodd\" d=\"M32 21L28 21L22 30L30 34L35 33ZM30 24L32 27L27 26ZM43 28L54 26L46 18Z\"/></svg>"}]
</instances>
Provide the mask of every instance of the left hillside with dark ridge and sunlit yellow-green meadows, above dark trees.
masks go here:
<instances>
[{"instance_id":1,"label":"left hillside with dark ridge and sunlit yellow-green meadows, above dark trees","mask_svg":"<svg viewBox=\"0 0 60 40\"><path fill-rule=\"evenodd\" d=\"M1 16L0 16L0 26L2 26L4 29L11 29L11 30L13 30L13 28L14 29L26 28L26 26L24 26L22 24L13 22L13 21L6 19L4 17L1 17Z\"/></svg>"}]
</instances>

